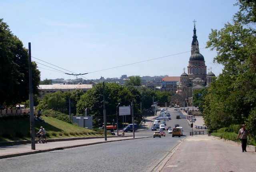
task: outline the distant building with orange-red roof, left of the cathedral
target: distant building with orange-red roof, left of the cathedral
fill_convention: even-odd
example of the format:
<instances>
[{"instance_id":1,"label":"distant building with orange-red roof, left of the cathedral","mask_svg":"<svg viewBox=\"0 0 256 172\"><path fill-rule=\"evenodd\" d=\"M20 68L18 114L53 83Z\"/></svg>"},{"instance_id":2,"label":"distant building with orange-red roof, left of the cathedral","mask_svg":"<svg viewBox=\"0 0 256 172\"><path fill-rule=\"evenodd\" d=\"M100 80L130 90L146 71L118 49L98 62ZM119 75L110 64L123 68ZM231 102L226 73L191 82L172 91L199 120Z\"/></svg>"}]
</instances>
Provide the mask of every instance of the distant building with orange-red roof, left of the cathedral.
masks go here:
<instances>
[{"instance_id":1,"label":"distant building with orange-red roof, left of the cathedral","mask_svg":"<svg viewBox=\"0 0 256 172\"><path fill-rule=\"evenodd\" d=\"M180 80L180 76L168 76L162 78L162 89L164 92L176 92L177 91L177 82Z\"/></svg>"}]
</instances>

